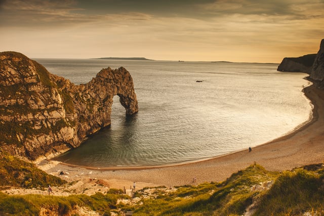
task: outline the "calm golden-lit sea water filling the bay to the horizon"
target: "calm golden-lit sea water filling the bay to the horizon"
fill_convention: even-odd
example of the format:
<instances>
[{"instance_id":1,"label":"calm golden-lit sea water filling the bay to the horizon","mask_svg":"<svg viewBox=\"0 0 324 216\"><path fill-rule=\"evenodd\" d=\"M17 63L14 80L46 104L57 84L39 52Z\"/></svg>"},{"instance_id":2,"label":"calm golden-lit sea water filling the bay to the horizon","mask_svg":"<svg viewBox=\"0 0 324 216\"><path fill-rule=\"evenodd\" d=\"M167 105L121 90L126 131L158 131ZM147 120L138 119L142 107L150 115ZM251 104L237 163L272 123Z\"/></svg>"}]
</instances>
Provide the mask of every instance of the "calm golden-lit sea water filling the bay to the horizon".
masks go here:
<instances>
[{"instance_id":1,"label":"calm golden-lit sea water filling the bay to the horizon","mask_svg":"<svg viewBox=\"0 0 324 216\"><path fill-rule=\"evenodd\" d=\"M308 120L301 73L276 64L36 59L75 84L100 69L130 71L139 112L126 118L114 97L111 127L57 158L93 167L162 165L261 145ZM196 82L204 81L204 82Z\"/></svg>"}]
</instances>

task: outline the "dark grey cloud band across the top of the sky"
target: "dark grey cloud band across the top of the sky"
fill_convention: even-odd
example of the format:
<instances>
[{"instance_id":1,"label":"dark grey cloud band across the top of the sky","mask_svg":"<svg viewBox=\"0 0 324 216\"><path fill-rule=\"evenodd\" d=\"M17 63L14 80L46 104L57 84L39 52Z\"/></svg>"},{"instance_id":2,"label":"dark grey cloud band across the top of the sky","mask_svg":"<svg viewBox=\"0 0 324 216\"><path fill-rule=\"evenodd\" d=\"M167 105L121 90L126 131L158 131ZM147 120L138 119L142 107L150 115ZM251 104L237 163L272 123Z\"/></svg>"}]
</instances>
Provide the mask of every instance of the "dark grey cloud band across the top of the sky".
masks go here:
<instances>
[{"instance_id":1,"label":"dark grey cloud band across the top of the sky","mask_svg":"<svg viewBox=\"0 0 324 216\"><path fill-rule=\"evenodd\" d=\"M0 25L66 27L105 21L160 18L211 20L234 14L276 16L280 19L312 19L323 16L322 0L0 0ZM13 16L14 14L14 16Z\"/></svg>"}]
</instances>

